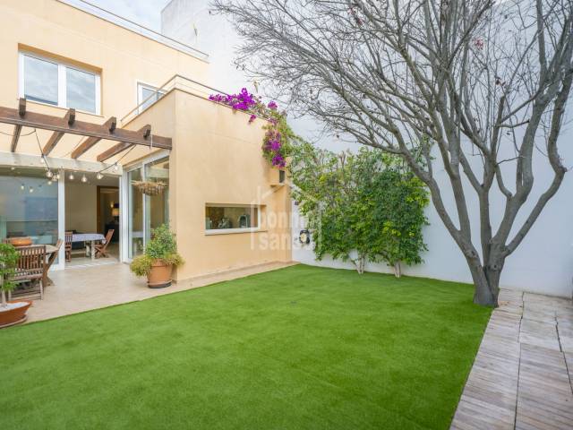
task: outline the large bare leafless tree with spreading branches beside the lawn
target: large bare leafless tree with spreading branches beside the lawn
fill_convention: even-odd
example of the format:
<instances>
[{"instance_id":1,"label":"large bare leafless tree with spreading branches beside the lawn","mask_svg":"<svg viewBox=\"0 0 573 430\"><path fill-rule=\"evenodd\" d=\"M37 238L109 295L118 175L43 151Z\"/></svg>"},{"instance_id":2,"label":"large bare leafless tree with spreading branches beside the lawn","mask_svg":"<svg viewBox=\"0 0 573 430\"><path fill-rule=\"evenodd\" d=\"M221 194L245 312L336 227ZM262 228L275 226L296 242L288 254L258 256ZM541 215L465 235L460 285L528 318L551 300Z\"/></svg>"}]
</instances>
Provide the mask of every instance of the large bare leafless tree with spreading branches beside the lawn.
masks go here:
<instances>
[{"instance_id":1,"label":"large bare leafless tree with spreading branches beside the lawn","mask_svg":"<svg viewBox=\"0 0 573 430\"><path fill-rule=\"evenodd\" d=\"M573 79L573 0L216 0L215 7L244 38L237 62L278 98L332 133L406 161L466 258L475 303L496 305L506 259L567 170L558 138ZM538 194L537 151L552 171ZM453 194L453 208L443 193ZM498 197L503 213L494 220ZM470 199L479 205L478 237Z\"/></svg>"}]
</instances>

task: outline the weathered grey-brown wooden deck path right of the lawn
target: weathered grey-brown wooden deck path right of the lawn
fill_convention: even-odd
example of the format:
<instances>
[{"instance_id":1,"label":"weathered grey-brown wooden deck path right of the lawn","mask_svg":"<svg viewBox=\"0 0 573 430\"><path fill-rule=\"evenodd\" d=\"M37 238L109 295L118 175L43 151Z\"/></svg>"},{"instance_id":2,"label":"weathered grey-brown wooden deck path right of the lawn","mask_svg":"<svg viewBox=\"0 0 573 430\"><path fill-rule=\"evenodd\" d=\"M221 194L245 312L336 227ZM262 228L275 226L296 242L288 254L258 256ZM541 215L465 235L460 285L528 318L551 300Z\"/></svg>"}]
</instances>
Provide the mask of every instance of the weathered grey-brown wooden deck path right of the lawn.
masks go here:
<instances>
[{"instance_id":1,"label":"weathered grey-brown wooden deck path right of the lawn","mask_svg":"<svg viewBox=\"0 0 573 430\"><path fill-rule=\"evenodd\" d=\"M573 303L503 290L451 429L573 429Z\"/></svg>"}]
</instances>

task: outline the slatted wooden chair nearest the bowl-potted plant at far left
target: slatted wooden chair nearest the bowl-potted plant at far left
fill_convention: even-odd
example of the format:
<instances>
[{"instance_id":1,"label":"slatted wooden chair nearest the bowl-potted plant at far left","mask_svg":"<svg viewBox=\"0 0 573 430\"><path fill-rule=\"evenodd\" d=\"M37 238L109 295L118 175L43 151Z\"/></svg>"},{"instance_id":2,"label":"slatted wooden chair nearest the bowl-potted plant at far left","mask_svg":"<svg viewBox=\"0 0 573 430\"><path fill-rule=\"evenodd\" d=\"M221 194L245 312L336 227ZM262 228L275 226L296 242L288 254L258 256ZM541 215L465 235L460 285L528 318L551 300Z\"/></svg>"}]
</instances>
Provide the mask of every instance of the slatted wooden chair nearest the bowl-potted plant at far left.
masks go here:
<instances>
[{"instance_id":1,"label":"slatted wooden chair nearest the bowl-potted plant at far left","mask_svg":"<svg viewBox=\"0 0 573 430\"><path fill-rule=\"evenodd\" d=\"M46 271L46 245L23 246L16 248L20 257L18 258L18 265L16 272L11 278L14 282L30 282L32 288L17 289L11 294L12 296L29 295L34 292L33 286L39 286L39 298L44 298L44 287L47 284L47 271Z\"/></svg>"}]
</instances>

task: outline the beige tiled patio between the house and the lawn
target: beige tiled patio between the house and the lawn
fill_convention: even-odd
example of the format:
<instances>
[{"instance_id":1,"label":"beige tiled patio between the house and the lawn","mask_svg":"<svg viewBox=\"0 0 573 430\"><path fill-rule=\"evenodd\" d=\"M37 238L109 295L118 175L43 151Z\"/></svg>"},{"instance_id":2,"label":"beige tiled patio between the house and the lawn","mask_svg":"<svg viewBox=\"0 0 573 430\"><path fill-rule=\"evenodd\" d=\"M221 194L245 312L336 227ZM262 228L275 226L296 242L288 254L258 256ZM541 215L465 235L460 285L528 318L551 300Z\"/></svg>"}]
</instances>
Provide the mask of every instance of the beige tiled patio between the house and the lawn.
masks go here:
<instances>
[{"instance_id":1,"label":"beige tiled patio between the house and the lawn","mask_svg":"<svg viewBox=\"0 0 573 430\"><path fill-rule=\"evenodd\" d=\"M127 264L119 262L53 271L50 272L50 278L54 281L54 285L46 288L43 300L34 301L28 311L28 323L203 287L223 280L273 271L288 265L291 263L269 262L184 280L174 283L171 287L160 289L147 288L144 278L136 278Z\"/></svg>"}]
</instances>

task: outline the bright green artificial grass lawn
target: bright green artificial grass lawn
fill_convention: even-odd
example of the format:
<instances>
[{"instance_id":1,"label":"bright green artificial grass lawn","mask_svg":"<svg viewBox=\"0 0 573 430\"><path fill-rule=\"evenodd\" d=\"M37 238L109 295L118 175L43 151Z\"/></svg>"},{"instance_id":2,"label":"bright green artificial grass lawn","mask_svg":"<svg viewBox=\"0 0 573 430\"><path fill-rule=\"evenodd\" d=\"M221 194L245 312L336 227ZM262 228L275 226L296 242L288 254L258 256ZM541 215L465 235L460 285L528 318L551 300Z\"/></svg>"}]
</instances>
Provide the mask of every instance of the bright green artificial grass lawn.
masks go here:
<instances>
[{"instance_id":1,"label":"bright green artificial grass lawn","mask_svg":"<svg viewBox=\"0 0 573 430\"><path fill-rule=\"evenodd\" d=\"M0 428L448 428L466 284L304 265L0 331Z\"/></svg>"}]
</instances>

